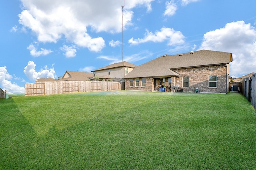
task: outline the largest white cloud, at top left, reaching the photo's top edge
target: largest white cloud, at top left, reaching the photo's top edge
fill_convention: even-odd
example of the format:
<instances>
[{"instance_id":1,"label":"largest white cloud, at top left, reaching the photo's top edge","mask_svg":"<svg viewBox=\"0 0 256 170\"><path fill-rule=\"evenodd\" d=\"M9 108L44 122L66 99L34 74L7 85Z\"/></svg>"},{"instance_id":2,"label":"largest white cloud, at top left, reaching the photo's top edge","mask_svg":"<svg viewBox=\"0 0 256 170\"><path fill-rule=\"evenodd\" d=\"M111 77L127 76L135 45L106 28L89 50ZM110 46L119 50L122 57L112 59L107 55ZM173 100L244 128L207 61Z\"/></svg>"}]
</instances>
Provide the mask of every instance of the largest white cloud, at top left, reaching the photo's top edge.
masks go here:
<instances>
[{"instance_id":1,"label":"largest white cloud, at top left, reaching the photo's top edge","mask_svg":"<svg viewBox=\"0 0 256 170\"><path fill-rule=\"evenodd\" d=\"M146 6L151 11L153 0L130 0L124 7L124 29L131 25L132 8ZM122 31L122 8L116 0L21 0L23 11L19 23L36 34L39 42L56 43L62 37L80 47L99 52L105 47L102 37L90 31L116 33Z\"/></svg>"}]
</instances>

